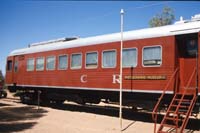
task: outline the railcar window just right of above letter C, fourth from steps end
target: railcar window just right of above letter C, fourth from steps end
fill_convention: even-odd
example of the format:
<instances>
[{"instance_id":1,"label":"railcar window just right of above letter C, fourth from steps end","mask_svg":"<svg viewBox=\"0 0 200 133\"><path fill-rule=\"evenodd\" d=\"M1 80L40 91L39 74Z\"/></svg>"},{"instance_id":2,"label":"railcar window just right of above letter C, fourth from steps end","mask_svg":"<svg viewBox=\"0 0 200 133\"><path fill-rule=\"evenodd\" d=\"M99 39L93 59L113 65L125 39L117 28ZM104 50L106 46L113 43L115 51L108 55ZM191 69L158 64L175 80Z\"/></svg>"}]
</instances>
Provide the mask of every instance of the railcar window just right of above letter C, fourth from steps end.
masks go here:
<instances>
[{"instance_id":1,"label":"railcar window just right of above letter C, fourth from steps end","mask_svg":"<svg viewBox=\"0 0 200 133\"><path fill-rule=\"evenodd\" d=\"M86 68L97 68L97 52L86 53Z\"/></svg>"}]
</instances>

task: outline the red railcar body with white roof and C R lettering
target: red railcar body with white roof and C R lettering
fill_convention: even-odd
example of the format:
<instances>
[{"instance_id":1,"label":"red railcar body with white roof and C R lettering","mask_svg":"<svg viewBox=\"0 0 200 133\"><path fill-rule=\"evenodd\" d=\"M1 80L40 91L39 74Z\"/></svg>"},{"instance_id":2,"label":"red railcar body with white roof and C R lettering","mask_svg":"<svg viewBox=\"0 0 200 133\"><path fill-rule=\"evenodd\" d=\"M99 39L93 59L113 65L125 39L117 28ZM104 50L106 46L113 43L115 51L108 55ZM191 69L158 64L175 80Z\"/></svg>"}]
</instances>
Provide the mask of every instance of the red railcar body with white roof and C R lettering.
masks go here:
<instances>
[{"instance_id":1,"label":"red railcar body with white roof and C R lettering","mask_svg":"<svg viewBox=\"0 0 200 133\"><path fill-rule=\"evenodd\" d=\"M183 91L200 66L199 31L200 21L195 20L124 32L124 103L157 101L176 69L178 78L166 90L166 103ZM22 100L30 92L30 97L36 97L40 90L43 101L118 101L119 71L120 33L60 39L12 51L7 57L6 84L10 91L26 92ZM197 88L197 95L199 82L193 78L190 86Z\"/></svg>"}]
</instances>

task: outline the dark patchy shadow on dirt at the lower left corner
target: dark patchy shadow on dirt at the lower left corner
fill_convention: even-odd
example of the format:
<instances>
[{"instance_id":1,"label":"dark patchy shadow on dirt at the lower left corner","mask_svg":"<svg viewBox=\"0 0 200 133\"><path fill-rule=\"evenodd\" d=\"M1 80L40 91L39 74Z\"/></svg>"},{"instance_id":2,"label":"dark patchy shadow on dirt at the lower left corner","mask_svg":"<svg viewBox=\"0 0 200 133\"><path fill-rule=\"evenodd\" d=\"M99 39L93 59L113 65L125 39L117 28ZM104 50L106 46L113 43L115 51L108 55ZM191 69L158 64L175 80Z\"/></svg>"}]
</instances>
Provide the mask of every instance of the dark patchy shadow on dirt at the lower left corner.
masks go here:
<instances>
[{"instance_id":1,"label":"dark patchy shadow on dirt at the lower left corner","mask_svg":"<svg viewBox=\"0 0 200 133\"><path fill-rule=\"evenodd\" d=\"M37 124L36 120L47 113L44 109L33 106L25 107L3 107L0 108L0 132L22 132ZM31 120L25 121L25 120Z\"/></svg>"}]
</instances>

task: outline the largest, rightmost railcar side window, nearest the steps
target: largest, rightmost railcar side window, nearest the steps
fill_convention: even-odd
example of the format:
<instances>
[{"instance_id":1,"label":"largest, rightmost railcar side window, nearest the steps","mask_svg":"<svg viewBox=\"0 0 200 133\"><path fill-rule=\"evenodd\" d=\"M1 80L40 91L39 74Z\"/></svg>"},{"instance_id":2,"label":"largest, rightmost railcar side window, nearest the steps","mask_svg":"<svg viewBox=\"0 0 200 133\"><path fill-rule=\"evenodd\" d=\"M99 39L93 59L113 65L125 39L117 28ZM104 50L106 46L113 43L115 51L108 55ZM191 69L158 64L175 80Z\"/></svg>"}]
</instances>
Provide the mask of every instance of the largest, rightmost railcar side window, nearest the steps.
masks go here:
<instances>
[{"instance_id":1,"label":"largest, rightmost railcar side window, nearest the steps","mask_svg":"<svg viewBox=\"0 0 200 133\"><path fill-rule=\"evenodd\" d=\"M144 66L160 66L162 63L161 47L145 47L143 49L143 65Z\"/></svg>"}]
</instances>

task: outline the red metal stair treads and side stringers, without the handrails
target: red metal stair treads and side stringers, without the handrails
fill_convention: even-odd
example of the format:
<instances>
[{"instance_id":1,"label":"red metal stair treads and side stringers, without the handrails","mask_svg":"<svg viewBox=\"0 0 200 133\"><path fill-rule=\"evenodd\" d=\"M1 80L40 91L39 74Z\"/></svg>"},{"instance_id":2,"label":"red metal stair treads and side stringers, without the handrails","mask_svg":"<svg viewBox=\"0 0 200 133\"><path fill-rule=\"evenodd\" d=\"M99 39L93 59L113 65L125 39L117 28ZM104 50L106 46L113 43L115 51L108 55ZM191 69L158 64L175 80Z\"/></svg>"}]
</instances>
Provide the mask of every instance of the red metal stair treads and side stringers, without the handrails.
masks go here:
<instances>
[{"instance_id":1,"label":"red metal stair treads and side stringers, without the handrails","mask_svg":"<svg viewBox=\"0 0 200 133\"><path fill-rule=\"evenodd\" d=\"M195 94L176 93L160 124L157 133L182 133L195 105Z\"/></svg>"}]
</instances>

